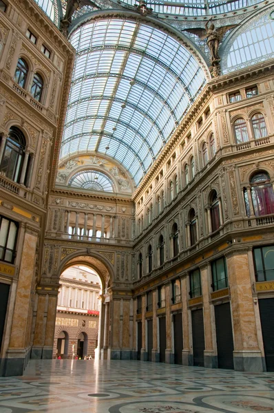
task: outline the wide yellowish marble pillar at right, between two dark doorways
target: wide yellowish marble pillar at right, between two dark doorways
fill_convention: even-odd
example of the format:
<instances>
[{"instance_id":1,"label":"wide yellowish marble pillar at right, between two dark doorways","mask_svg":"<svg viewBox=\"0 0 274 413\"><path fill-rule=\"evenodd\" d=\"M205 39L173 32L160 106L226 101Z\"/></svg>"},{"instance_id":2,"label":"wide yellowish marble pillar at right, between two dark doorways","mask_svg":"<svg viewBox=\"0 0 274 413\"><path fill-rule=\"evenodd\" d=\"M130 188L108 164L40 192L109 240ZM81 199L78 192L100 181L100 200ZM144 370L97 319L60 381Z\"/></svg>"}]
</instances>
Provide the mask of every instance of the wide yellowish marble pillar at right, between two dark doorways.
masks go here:
<instances>
[{"instance_id":1,"label":"wide yellowish marble pillar at right, between two dark doorways","mask_svg":"<svg viewBox=\"0 0 274 413\"><path fill-rule=\"evenodd\" d=\"M248 251L226 254L227 273L231 292L231 315L234 339L235 370L263 371L249 273Z\"/></svg>"}]
</instances>

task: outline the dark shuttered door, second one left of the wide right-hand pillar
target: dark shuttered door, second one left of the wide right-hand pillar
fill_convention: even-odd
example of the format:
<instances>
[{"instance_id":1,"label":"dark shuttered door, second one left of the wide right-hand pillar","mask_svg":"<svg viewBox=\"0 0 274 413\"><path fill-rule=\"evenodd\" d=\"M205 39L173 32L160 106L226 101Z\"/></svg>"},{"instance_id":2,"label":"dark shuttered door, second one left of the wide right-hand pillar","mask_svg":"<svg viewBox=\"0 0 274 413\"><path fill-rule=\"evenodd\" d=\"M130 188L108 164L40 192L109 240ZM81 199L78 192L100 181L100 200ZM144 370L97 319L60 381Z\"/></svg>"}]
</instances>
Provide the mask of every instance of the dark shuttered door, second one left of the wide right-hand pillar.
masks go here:
<instances>
[{"instance_id":1,"label":"dark shuttered door, second one left of the wide right-hand pillar","mask_svg":"<svg viewBox=\"0 0 274 413\"><path fill-rule=\"evenodd\" d=\"M192 339L193 339L193 364L204 366L204 317L202 308L191 311Z\"/></svg>"}]
</instances>

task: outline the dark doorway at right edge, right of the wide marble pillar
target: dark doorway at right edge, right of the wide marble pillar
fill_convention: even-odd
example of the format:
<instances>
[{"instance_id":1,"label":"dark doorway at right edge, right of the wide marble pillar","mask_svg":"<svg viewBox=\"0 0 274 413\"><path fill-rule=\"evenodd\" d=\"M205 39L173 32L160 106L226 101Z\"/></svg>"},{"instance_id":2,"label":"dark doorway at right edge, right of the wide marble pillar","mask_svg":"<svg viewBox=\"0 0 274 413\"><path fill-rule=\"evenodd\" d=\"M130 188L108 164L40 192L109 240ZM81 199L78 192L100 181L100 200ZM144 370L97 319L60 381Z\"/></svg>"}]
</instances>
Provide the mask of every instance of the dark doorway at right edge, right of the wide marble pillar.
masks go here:
<instances>
[{"instance_id":1,"label":"dark doorway at right edge, right of the wide marble pillar","mask_svg":"<svg viewBox=\"0 0 274 413\"><path fill-rule=\"evenodd\" d=\"M266 370L274 372L274 298L259 300Z\"/></svg>"}]
</instances>

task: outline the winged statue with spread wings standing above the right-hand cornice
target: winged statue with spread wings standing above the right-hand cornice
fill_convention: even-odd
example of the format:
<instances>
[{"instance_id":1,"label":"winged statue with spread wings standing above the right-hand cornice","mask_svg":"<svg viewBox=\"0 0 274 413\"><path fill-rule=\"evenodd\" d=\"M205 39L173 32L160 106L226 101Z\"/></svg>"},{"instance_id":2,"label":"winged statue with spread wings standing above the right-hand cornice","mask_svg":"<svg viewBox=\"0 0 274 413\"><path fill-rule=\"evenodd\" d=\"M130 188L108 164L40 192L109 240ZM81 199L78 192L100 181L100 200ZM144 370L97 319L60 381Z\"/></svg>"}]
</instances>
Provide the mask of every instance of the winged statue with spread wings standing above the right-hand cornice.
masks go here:
<instances>
[{"instance_id":1,"label":"winged statue with spread wings standing above the right-hand cornice","mask_svg":"<svg viewBox=\"0 0 274 413\"><path fill-rule=\"evenodd\" d=\"M209 22L211 24L209 25ZM212 17L205 23L204 28L193 28L193 29L185 29L184 32L189 32L195 34L199 37L199 39L204 40L207 39L207 45L209 47L209 51L211 54L211 74L213 77L220 75L220 56L218 54L220 43L222 39L224 39L224 34L229 30L235 28L237 24L230 24L226 26L222 26L222 28L215 28L215 25L212 22Z\"/></svg>"}]
</instances>

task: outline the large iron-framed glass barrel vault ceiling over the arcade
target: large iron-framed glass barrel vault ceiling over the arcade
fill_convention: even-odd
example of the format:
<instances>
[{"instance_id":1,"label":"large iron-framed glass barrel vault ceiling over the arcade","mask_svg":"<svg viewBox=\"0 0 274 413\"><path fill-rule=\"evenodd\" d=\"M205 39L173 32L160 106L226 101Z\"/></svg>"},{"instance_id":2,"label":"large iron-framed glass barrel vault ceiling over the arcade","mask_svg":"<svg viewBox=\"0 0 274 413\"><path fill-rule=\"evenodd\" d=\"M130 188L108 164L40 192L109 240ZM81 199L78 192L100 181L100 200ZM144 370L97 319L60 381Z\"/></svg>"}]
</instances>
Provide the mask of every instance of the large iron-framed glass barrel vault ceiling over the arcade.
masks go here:
<instances>
[{"instance_id":1,"label":"large iron-framed glass barrel vault ceiling over the arcade","mask_svg":"<svg viewBox=\"0 0 274 413\"><path fill-rule=\"evenodd\" d=\"M205 82L192 54L140 22L92 21L70 36L76 61L60 158L96 151L140 182Z\"/></svg>"}]
</instances>

